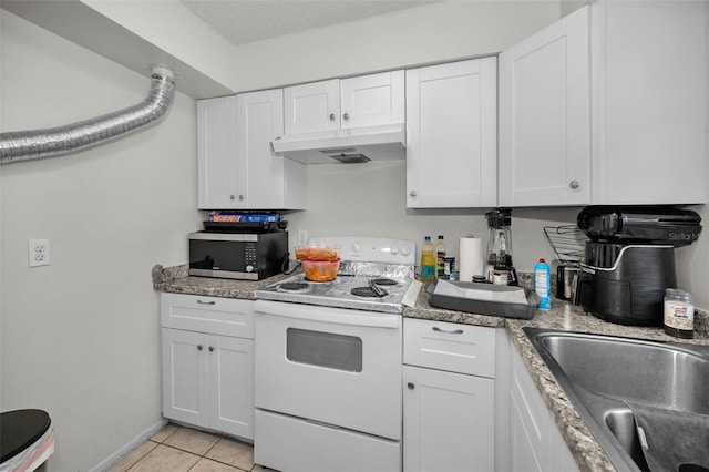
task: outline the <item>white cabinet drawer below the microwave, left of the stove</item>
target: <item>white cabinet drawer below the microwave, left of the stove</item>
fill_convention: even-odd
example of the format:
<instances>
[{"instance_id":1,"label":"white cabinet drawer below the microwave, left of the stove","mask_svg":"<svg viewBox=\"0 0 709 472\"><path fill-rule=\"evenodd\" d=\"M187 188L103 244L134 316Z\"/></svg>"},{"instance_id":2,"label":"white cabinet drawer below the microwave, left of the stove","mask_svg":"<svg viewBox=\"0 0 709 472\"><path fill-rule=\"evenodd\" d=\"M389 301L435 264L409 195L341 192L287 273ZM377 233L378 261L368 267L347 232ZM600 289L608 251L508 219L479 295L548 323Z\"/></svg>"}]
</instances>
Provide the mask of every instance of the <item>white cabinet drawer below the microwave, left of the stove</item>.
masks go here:
<instances>
[{"instance_id":1,"label":"white cabinet drawer below the microwave, left of the stove","mask_svg":"<svg viewBox=\"0 0 709 472\"><path fill-rule=\"evenodd\" d=\"M254 301L197 295L161 294L161 325L254 339Z\"/></svg>"}]
</instances>

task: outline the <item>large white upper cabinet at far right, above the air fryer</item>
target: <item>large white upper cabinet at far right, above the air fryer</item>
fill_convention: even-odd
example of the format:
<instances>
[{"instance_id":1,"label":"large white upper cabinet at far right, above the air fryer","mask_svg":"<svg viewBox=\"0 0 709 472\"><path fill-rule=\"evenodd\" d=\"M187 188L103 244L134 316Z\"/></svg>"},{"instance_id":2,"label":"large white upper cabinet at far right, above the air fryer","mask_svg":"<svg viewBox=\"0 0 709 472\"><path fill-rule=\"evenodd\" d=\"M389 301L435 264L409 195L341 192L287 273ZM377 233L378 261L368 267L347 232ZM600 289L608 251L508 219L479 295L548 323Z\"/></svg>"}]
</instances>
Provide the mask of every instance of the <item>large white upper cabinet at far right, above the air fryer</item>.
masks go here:
<instances>
[{"instance_id":1,"label":"large white upper cabinet at far right, above the air fryer","mask_svg":"<svg viewBox=\"0 0 709 472\"><path fill-rule=\"evenodd\" d=\"M706 203L707 8L595 2L502 52L499 204Z\"/></svg>"}]
</instances>

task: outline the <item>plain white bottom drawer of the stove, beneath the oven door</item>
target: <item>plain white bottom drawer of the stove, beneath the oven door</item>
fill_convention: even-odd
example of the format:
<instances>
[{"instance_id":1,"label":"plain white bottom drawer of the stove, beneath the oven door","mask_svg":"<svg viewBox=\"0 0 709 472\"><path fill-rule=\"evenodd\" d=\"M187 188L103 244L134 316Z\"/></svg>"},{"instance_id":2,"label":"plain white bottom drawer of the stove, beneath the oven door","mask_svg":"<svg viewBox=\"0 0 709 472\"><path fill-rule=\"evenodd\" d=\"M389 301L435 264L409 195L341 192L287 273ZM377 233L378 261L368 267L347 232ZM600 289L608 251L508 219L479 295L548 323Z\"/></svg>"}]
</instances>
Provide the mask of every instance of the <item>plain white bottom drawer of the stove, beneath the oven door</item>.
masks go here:
<instances>
[{"instance_id":1,"label":"plain white bottom drawer of the stove, beneath the oven door","mask_svg":"<svg viewBox=\"0 0 709 472\"><path fill-rule=\"evenodd\" d=\"M254 462L280 471L401 470L401 442L256 410Z\"/></svg>"}]
</instances>

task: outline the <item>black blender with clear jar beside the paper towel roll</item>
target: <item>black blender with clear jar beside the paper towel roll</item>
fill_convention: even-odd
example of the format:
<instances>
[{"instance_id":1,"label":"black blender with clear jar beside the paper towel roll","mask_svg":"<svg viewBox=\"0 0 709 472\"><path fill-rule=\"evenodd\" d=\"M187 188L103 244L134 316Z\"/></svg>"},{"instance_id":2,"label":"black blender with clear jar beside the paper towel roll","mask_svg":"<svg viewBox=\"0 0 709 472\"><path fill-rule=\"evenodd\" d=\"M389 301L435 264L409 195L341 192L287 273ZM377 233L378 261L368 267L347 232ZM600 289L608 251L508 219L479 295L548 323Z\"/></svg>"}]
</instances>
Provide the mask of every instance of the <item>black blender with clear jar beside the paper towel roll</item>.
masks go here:
<instances>
[{"instance_id":1,"label":"black blender with clear jar beside the paper towel roll","mask_svg":"<svg viewBox=\"0 0 709 472\"><path fill-rule=\"evenodd\" d=\"M485 214L487 218L487 259L485 277L497 285L517 285L517 273L512 265L512 211L497 208Z\"/></svg>"}]
</instances>

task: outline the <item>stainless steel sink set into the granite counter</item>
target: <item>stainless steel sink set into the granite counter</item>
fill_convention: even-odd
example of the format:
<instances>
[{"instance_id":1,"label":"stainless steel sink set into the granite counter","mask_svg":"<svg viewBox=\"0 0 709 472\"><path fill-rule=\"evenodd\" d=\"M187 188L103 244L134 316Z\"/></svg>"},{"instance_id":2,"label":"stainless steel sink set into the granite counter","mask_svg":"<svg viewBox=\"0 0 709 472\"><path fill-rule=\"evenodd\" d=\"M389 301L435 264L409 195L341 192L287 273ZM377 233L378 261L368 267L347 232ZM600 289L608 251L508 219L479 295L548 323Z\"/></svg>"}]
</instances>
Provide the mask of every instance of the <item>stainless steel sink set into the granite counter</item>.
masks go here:
<instances>
[{"instance_id":1,"label":"stainless steel sink set into the granite counter","mask_svg":"<svg viewBox=\"0 0 709 472\"><path fill-rule=\"evenodd\" d=\"M523 328L619 471L647 471L626 401L709 414L709 346Z\"/></svg>"}]
</instances>

